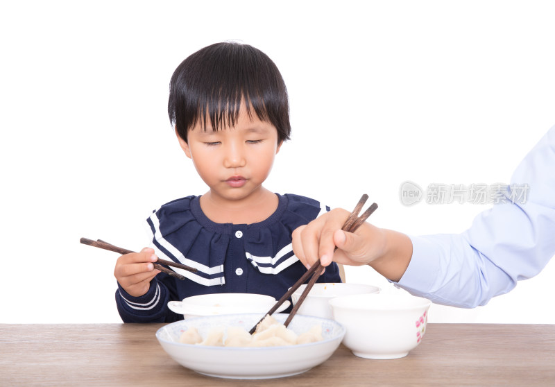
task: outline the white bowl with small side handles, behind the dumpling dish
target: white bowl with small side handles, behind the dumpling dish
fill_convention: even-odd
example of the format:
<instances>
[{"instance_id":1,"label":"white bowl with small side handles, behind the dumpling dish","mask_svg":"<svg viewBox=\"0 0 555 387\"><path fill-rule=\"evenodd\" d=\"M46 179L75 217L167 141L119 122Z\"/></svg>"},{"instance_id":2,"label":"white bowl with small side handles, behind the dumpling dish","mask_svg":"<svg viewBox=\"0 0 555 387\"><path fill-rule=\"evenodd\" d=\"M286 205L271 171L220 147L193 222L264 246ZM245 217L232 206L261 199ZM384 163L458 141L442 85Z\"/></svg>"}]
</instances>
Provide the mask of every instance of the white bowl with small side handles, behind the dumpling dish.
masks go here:
<instances>
[{"instance_id":1,"label":"white bowl with small side handles, behind the dumpling dish","mask_svg":"<svg viewBox=\"0 0 555 387\"><path fill-rule=\"evenodd\" d=\"M183 318L213 316L232 313L265 313L275 304L275 298L270 295L253 293L214 293L193 295L182 301L170 301L171 311L182 314ZM276 311L284 311L289 307L289 301L284 302Z\"/></svg>"}]
</instances>

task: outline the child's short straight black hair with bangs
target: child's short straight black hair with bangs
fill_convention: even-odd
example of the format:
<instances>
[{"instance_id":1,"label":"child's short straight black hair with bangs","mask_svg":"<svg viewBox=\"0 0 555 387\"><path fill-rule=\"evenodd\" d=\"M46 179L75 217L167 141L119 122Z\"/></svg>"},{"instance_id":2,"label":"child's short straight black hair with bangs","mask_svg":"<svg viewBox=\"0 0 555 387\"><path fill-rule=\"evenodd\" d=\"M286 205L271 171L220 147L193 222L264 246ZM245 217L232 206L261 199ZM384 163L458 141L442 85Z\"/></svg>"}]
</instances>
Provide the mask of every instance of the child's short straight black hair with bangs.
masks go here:
<instances>
[{"instance_id":1,"label":"child's short straight black hair with bangs","mask_svg":"<svg viewBox=\"0 0 555 387\"><path fill-rule=\"evenodd\" d=\"M234 126L244 101L261 121L278 129L278 142L289 139L289 101L283 78L268 55L248 44L216 43L196 51L178 66L169 85L168 114L178 135L199 122L206 130Z\"/></svg>"}]
</instances>

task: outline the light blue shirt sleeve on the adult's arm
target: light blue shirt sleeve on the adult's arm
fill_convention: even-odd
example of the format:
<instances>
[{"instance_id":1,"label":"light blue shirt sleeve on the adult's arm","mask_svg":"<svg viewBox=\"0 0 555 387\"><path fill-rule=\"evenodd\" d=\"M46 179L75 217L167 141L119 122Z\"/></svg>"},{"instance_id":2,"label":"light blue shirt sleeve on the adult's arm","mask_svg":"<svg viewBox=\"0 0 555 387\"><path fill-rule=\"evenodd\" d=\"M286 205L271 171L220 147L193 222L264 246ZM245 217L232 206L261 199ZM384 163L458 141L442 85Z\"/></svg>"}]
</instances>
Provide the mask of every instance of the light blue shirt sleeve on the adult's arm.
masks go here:
<instances>
[{"instance_id":1,"label":"light blue shirt sleeve on the adult's arm","mask_svg":"<svg viewBox=\"0 0 555 387\"><path fill-rule=\"evenodd\" d=\"M525 200L494 205L462 234L410 236L413 255L398 286L473 308L538 274L555 255L555 126L513 173L510 185L524 184Z\"/></svg>"}]
</instances>

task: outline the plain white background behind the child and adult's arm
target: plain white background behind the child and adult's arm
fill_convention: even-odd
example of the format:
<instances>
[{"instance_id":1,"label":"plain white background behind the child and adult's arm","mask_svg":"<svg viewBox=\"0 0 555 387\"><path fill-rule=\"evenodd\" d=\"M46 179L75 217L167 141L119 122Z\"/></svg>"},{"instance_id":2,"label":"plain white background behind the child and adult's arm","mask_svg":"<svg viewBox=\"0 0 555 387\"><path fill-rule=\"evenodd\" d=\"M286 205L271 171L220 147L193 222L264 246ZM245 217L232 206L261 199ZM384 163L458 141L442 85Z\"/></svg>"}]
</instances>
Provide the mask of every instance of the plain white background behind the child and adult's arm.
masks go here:
<instances>
[{"instance_id":1,"label":"plain white background behind the child and adult's arm","mask_svg":"<svg viewBox=\"0 0 555 387\"><path fill-rule=\"evenodd\" d=\"M409 234L462 232L486 205L399 200L405 180L509 182L555 124L550 1L5 1L0 6L0 322L120 322L117 254L155 207L206 191L167 117L173 70L239 40L289 89L293 135L266 187ZM348 282L395 291L370 268ZM555 264L431 322L555 322Z\"/></svg>"}]
</instances>

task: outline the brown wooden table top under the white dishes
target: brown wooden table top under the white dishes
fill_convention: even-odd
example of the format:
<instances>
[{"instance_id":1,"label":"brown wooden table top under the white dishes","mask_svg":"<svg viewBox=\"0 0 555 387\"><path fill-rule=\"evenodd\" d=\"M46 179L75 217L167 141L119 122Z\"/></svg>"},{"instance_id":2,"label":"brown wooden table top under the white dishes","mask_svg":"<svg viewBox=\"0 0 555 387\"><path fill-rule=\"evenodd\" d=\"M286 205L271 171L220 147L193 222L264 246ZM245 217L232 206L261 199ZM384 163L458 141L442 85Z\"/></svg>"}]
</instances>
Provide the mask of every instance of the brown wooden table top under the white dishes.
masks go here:
<instances>
[{"instance_id":1,"label":"brown wooden table top under the white dishes","mask_svg":"<svg viewBox=\"0 0 555 387\"><path fill-rule=\"evenodd\" d=\"M555 325L429 324L402 359L341 345L301 375L254 381L178 365L155 338L161 326L0 325L0 386L555 386Z\"/></svg>"}]
</instances>

